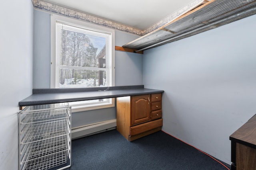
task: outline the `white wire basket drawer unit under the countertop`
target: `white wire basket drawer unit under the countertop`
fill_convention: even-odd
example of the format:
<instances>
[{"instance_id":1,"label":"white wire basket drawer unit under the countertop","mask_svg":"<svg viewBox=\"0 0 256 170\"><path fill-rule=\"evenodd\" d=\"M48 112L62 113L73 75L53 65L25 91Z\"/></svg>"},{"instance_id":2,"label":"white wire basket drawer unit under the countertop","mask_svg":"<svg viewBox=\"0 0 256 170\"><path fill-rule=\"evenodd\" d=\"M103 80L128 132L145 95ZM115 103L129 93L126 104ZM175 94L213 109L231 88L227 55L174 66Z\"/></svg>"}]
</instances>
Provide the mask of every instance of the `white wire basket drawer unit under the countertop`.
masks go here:
<instances>
[{"instance_id":1,"label":"white wire basket drawer unit under the countertop","mask_svg":"<svg viewBox=\"0 0 256 170\"><path fill-rule=\"evenodd\" d=\"M19 111L19 170L71 166L71 107L27 106Z\"/></svg>"}]
</instances>

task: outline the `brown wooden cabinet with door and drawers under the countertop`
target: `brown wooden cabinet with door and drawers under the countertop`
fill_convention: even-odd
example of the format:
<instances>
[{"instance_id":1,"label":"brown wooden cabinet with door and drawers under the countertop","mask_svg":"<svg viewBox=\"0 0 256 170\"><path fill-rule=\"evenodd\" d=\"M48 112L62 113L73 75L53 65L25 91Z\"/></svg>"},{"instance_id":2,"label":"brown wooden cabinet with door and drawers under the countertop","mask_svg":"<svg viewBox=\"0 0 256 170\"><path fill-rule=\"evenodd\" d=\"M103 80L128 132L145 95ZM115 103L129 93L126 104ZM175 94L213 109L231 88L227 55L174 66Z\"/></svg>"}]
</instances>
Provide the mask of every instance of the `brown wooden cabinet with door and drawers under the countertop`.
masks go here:
<instances>
[{"instance_id":1,"label":"brown wooden cabinet with door and drawers under the countertop","mask_svg":"<svg viewBox=\"0 0 256 170\"><path fill-rule=\"evenodd\" d=\"M162 94L116 98L116 129L128 141L162 128Z\"/></svg>"}]
</instances>

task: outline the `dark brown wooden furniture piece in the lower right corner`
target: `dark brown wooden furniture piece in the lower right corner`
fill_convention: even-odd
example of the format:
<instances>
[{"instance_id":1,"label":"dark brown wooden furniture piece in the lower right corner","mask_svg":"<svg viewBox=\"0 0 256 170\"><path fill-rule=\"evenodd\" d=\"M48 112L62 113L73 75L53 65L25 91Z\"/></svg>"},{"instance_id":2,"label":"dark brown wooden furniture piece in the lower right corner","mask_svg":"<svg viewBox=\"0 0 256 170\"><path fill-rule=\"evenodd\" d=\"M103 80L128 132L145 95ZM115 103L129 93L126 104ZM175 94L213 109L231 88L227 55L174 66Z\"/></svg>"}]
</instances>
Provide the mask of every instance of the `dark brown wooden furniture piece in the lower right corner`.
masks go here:
<instances>
[{"instance_id":1,"label":"dark brown wooden furniture piece in the lower right corner","mask_svg":"<svg viewBox=\"0 0 256 170\"><path fill-rule=\"evenodd\" d=\"M256 115L230 135L231 170L256 170Z\"/></svg>"}]
</instances>

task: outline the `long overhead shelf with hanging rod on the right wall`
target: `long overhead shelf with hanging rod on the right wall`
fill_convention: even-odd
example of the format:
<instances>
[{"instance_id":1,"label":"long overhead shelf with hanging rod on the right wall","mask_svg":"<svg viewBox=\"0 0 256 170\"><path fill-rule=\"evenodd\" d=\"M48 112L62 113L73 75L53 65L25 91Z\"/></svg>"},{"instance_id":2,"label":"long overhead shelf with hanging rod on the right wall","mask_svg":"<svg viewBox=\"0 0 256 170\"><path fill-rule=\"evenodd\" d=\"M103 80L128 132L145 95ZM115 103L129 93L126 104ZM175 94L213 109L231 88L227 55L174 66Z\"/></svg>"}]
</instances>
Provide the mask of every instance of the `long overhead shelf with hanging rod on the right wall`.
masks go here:
<instances>
[{"instance_id":1,"label":"long overhead shelf with hanging rod on the right wall","mask_svg":"<svg viewBox=\"0 0 256 170\"><path fill-rule=\"evenodd\" d=\"M158 47L256 14L256 0L211 0L126 44L138 51Z\"/></svg>"}]
</instances>

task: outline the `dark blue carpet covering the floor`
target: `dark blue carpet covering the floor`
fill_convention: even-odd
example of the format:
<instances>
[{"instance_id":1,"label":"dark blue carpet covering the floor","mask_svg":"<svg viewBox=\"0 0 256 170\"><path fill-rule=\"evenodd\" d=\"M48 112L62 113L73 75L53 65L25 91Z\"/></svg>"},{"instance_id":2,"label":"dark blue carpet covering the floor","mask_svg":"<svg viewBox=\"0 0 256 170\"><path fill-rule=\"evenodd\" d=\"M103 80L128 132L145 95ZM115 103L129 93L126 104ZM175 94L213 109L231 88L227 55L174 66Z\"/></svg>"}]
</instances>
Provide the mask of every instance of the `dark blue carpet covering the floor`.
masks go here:
<instances>
[{"instance_id":1,"label":"dark blue carpet covering the floor","mask_svg":"<svg viewBox=\"0 0 256 170\"><path fill-rule=\"evenodd\" d=\"M230 168L229 165L225 164ZM227 170L209 156L159 131L127 141L118 131L72 141L68 170Z\"/></svg>"}]
</instances>

